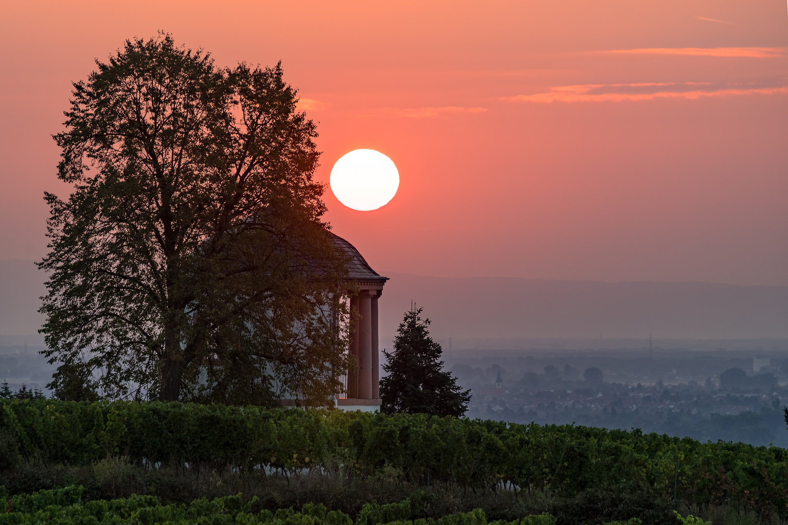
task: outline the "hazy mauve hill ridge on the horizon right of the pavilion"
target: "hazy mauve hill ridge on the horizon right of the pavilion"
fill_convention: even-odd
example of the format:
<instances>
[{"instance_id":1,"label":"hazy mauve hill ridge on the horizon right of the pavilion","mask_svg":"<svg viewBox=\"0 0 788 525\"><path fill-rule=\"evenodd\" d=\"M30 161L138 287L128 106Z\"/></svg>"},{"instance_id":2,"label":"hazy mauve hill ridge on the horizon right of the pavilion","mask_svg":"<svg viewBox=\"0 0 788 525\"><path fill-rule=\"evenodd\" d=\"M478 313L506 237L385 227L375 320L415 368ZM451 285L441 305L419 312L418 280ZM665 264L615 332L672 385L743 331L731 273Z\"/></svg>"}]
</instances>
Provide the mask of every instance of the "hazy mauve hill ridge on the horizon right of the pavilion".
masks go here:
<instances>
[{"instance_id":1,"label":"hazy mauve hill ridge on the horizon right of the pavilion","mask_svg":"<svg viewBox=\"0 0 788 525\"><path fill-rule=\"evenodd\" d=\"M788 287L382 275L381 335L414 300L440 339L788 337Z\"/></svg>"}]
</instances>

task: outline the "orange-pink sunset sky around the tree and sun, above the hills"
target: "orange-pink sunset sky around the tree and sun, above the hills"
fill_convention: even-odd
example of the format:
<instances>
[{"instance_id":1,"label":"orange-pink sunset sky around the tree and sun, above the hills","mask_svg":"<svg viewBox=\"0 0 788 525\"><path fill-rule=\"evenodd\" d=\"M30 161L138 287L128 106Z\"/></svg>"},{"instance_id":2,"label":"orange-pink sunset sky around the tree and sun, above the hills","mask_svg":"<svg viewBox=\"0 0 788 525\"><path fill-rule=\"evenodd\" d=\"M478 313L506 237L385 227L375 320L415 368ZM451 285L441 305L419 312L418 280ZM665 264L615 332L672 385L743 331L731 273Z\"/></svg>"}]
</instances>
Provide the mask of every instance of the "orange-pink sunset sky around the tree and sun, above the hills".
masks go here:
<instances>
[{"instance_id":1,"label":"orange-pink sunset sky around the tree and sun, above the hills","mask_svg":"<svg viewBox=\"0 0 788 525\"><path fill-rule=\"evenodd\" d=\"M283 62L318 177L385 153L400 191L334 231L379 272L788 285L784 0L6 2L0 258L43 255L69 81L169 31Z\"/></svg>"}]
</instances>

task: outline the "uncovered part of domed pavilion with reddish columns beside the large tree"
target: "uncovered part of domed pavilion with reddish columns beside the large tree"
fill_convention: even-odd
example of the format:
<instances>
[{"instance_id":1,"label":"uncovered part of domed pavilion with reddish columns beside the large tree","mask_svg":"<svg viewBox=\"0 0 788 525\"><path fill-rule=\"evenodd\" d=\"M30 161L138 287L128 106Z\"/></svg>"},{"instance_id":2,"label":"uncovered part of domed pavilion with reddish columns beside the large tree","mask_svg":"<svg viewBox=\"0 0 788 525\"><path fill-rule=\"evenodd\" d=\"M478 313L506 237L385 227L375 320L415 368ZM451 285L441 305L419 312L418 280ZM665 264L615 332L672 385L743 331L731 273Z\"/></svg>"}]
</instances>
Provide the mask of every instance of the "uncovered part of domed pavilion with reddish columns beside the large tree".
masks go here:
<instances>
[{"instance_id":1,"label":"uncovered part of domed pavilion with reddish columns beside the large tree","mask_svg":"<svg viewBox=\"0 0 788 525\"><path fill-rule=\"evenodd\" d=\"M359 319L350 348L358 368L344 376L345 392L336 394L336 406L344 410L373 412L381 409L377 300L388 277L375 272L350 242L338 235L334 235L334 241L350 257L348 278L359 287L359 295L351 298L351 309L358 310Z\"/></svg>"}]
</instances>

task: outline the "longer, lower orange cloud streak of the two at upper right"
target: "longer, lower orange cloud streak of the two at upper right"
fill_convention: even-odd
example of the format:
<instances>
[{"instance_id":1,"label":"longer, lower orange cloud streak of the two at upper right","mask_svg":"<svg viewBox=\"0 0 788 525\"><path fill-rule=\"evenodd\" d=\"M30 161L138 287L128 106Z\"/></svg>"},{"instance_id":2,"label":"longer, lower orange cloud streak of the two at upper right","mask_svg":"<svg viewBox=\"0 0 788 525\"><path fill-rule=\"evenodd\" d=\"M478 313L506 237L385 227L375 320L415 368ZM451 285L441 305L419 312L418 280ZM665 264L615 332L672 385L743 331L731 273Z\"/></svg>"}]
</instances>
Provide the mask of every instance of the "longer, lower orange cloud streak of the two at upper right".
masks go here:
<instances>
[{"instance_id":1,"label":"longer, lower orange cloud streak of the two at upper right","mask_svg":"<svg viewBox=\"0 0 788 525\"><path fill-rule=\"evenodd\" d=\"M717 90L659 90L650 93L630 91L594 92L610 88L643 88L666 86L708 86L708 83L631 83L631 84L581 84L576 86L551 87L549 93L521 94L515 97L501 97L505 102L642 102L657 98L678 98L697 100L698 98L730 97L753 94L788 94L788 87L754 87L754 88L724 88Z\"/></svg>"}]
</instances>

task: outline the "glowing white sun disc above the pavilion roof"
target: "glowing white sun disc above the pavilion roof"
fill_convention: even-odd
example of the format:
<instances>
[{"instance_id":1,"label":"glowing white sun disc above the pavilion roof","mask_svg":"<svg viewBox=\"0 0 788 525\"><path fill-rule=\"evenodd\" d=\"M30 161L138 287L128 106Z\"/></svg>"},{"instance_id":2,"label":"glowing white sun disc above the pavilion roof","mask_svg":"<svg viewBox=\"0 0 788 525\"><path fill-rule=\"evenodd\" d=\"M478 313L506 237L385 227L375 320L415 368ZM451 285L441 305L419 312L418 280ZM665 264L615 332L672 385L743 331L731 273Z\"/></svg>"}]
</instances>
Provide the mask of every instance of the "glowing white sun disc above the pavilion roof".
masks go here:
<instances>
[{"instance_id":1,"label":"glowing white sun disc above the pavilion roof","mask_svg":"<svg viewBox=\"0 0 788 525\"><path fill-rule=\"evenodd\" d=\"M394 162L375 150L353 150L331 170L331 190L348 208L368 212L388 204L400 187Z\"/></svg>"}]
</instances>

